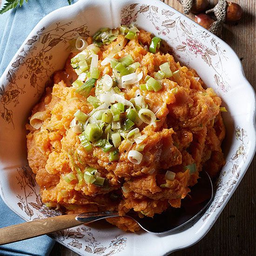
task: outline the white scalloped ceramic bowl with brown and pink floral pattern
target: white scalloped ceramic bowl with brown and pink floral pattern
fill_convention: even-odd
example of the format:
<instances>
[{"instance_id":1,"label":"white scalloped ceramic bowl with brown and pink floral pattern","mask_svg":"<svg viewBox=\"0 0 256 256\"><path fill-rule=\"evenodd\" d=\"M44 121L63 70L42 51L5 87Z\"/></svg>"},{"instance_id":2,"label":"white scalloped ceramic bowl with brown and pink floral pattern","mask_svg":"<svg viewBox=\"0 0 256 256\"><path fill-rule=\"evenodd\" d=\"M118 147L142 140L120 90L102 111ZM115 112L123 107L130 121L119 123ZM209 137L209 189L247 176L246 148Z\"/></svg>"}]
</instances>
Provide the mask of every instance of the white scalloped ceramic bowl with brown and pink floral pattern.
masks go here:
<instances>
[{"instance_id":1,"label":"white scalloped ceramic bowl with brown and pink floral pattern","mask_svg":"<svg viewBox=\"0 0 256 256\"><path fill-rule=\"evenodd\" d=\"M241 62L225 42L159 0L80 0L42 19L0 78L0 194L10 209L27 221L59 214L41 203L27 165L27 117L49 76L64 66L68 40L92 35L100 27L130 22L166 40L175 58L195 68L222 97L228 109L223 114L227 163L216 181L216 195L207 212L175 233L131 234L94 225L53 235L81 255L164 255L198 242L221 214L255 154L255 93L244 77Z\"/></svg>"}]
</instances>

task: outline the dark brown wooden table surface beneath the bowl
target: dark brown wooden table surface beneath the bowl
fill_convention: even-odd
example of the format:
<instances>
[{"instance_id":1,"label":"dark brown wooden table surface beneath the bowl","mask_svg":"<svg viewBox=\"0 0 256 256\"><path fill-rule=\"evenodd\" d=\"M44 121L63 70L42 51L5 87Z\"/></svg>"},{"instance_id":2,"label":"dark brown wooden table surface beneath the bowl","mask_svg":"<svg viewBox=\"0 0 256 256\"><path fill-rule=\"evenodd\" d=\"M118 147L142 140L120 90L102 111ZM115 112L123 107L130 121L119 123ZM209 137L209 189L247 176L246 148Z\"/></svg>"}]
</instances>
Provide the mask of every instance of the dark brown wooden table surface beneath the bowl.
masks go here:
<instances>
[{"instance_id":1,"label":"dark brown wooden table surface beneath the bowl","mask_svg":"<svg viewBox=\"0 0 256 256\"><path fill-rule=\"evenodd\" d=\"M243 7L244 16L239 23L225 27L223 40L241 58L246 77L256 89L256 0L232 1ZM181 5L177 0L164 2L181 11ZM211 3L216 2L217 0L211 0ZM193 19L192 15L190 17ZM50 254L50 256L76 255L58 243ZM192 247L172 254L172 256L202 255L256 255L256 158L209 233Z\"/></svg>"}]
</instances>

